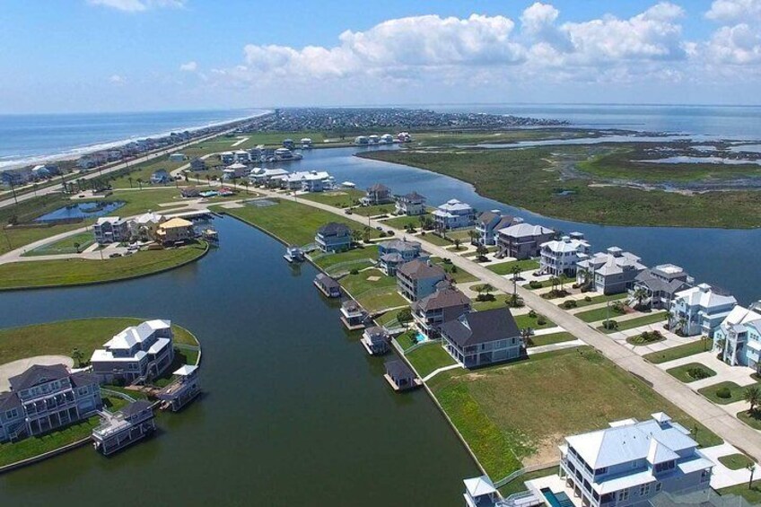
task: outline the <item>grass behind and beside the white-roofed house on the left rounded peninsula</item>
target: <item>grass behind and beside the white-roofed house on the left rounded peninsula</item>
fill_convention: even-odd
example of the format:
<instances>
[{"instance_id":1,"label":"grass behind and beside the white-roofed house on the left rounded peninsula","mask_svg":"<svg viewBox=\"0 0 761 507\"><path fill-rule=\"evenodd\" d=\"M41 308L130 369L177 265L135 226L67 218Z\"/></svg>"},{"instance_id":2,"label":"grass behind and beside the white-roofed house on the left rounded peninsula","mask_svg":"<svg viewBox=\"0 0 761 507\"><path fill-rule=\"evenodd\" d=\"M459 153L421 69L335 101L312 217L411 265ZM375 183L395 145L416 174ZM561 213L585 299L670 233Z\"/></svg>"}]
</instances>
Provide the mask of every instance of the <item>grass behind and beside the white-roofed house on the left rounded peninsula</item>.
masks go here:
<instances>
[{"instance_id":1,"label":"grass behind and beside the white-roofed house on the left rounded peninsula","mask_svg":"<svg viewBox=\"0 0 761 507\"><path fill-rule=\"evenodd\" d=\"M101 347L119 331L136 326L144 319L132 317L102 317L33 324L22 328L0 329L0 364L34 355L68 355L74 348L87 362L92 351ZM172 325L177 344L198 345L187 329ZM76 365L76 361L74 361Z\"/></svg>"}]
</instances>

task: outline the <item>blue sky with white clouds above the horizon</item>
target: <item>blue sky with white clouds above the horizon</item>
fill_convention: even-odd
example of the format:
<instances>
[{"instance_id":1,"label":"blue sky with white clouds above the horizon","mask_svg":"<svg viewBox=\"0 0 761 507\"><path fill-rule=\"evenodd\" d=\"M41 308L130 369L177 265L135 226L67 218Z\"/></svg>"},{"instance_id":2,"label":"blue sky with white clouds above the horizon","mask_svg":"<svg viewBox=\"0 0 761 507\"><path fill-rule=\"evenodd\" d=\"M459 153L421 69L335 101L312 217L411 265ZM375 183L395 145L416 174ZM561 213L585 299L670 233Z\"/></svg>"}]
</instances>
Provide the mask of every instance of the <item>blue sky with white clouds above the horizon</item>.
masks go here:
<instances>
[{"instance_id":1,"label":"blue sky with white clouds above the horizon","mask_svg":"<svg viewBox=\"0 0 761 507\"><path fill-rule=\"evenodd\" d=\"M0 113L758 103L761 76L761 0L5 0L3 7Z\"/></svg>"}]
</instances>

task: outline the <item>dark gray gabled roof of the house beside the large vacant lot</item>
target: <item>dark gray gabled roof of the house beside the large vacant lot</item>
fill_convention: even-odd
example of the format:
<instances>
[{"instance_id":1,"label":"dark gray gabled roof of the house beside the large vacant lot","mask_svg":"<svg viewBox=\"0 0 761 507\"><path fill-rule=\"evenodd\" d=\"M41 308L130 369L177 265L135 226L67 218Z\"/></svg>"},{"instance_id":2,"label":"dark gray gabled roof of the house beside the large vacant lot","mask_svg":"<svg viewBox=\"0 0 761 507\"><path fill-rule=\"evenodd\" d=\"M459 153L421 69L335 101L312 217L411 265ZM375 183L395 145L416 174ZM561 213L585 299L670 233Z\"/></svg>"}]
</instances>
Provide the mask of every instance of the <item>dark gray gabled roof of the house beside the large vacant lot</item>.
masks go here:
<instances>
[{"instance_id":1,"label":"dark gray gabled roof of the house beside the large vacant lot","mask_svg":"<svg viewBox=\"0 0 761 507\"><path fill-rule=\"evenodd\" d=\"M443 335L461 347L520 336L520 329L507 308L474 311L444 322Z\"/></svg>"}]
</instances>

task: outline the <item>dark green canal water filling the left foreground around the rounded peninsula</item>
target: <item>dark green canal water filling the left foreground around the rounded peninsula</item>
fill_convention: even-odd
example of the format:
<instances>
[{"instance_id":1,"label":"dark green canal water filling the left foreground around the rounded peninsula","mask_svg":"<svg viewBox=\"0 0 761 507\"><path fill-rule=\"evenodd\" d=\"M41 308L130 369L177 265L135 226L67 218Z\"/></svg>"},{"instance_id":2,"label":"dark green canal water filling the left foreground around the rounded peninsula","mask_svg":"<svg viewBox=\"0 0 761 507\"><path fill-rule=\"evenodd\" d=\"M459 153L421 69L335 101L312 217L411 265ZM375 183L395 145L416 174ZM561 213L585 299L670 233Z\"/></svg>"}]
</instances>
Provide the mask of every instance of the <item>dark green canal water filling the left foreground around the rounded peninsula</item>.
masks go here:
<instances>
[{"instance_id":1,"label":"dark green canal water filling the left foreground around the rounded peninsula","mask_svg":"<svg viewBox=\"0 0 761 507\"><path fill-rule=\"evenodd\" d=\"M0 476L0 505L461 505L477 468L433 401L391 391L314 267L230 217L214 226L220 249L162 275L0 293L3 328L172 319L203 344L206 389L111 458L85 447Z\"/></svg>"}]
</instances>

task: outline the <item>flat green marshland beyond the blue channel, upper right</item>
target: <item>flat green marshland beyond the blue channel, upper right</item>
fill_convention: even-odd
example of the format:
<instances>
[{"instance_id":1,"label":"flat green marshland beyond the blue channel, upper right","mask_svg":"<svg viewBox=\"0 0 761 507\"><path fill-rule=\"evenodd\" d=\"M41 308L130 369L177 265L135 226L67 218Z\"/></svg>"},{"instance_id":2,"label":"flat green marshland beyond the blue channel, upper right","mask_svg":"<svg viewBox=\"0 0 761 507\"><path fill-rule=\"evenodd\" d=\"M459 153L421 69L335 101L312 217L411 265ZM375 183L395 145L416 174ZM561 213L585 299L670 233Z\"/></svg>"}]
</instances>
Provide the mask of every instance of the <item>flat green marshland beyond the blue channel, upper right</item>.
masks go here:
<instances>
[{"instance_id":1,"label":"flat green marshland beyond the blue channel, upper right","mask_svg":"<svg viewBox=\"0 0 761 507\"><path fill-rule=\"evenodd\" d=\"M362 153L361 156L432 170L472 184L482 196L576 222L750 228L757 227L761 221L755 190L711 191L687 196L617 185L593 186L590 183L596 177L594 174L588 178L564 176L564 165L586 161L590 154L599 153L601 149L599 145L578 144L468 153L400 150ZM659 170L651 167L655 165L649 164L647 170ZM669 170L669 174L679 170L674 167L678 164L662 165L668 165L660 170ZM687 169L694 170L691 166L695 164L688 165ZM632 180L633 176L627 174L625 179ZM671 213L674 209L679 213Z\"/></svg>"}]
</instances>

